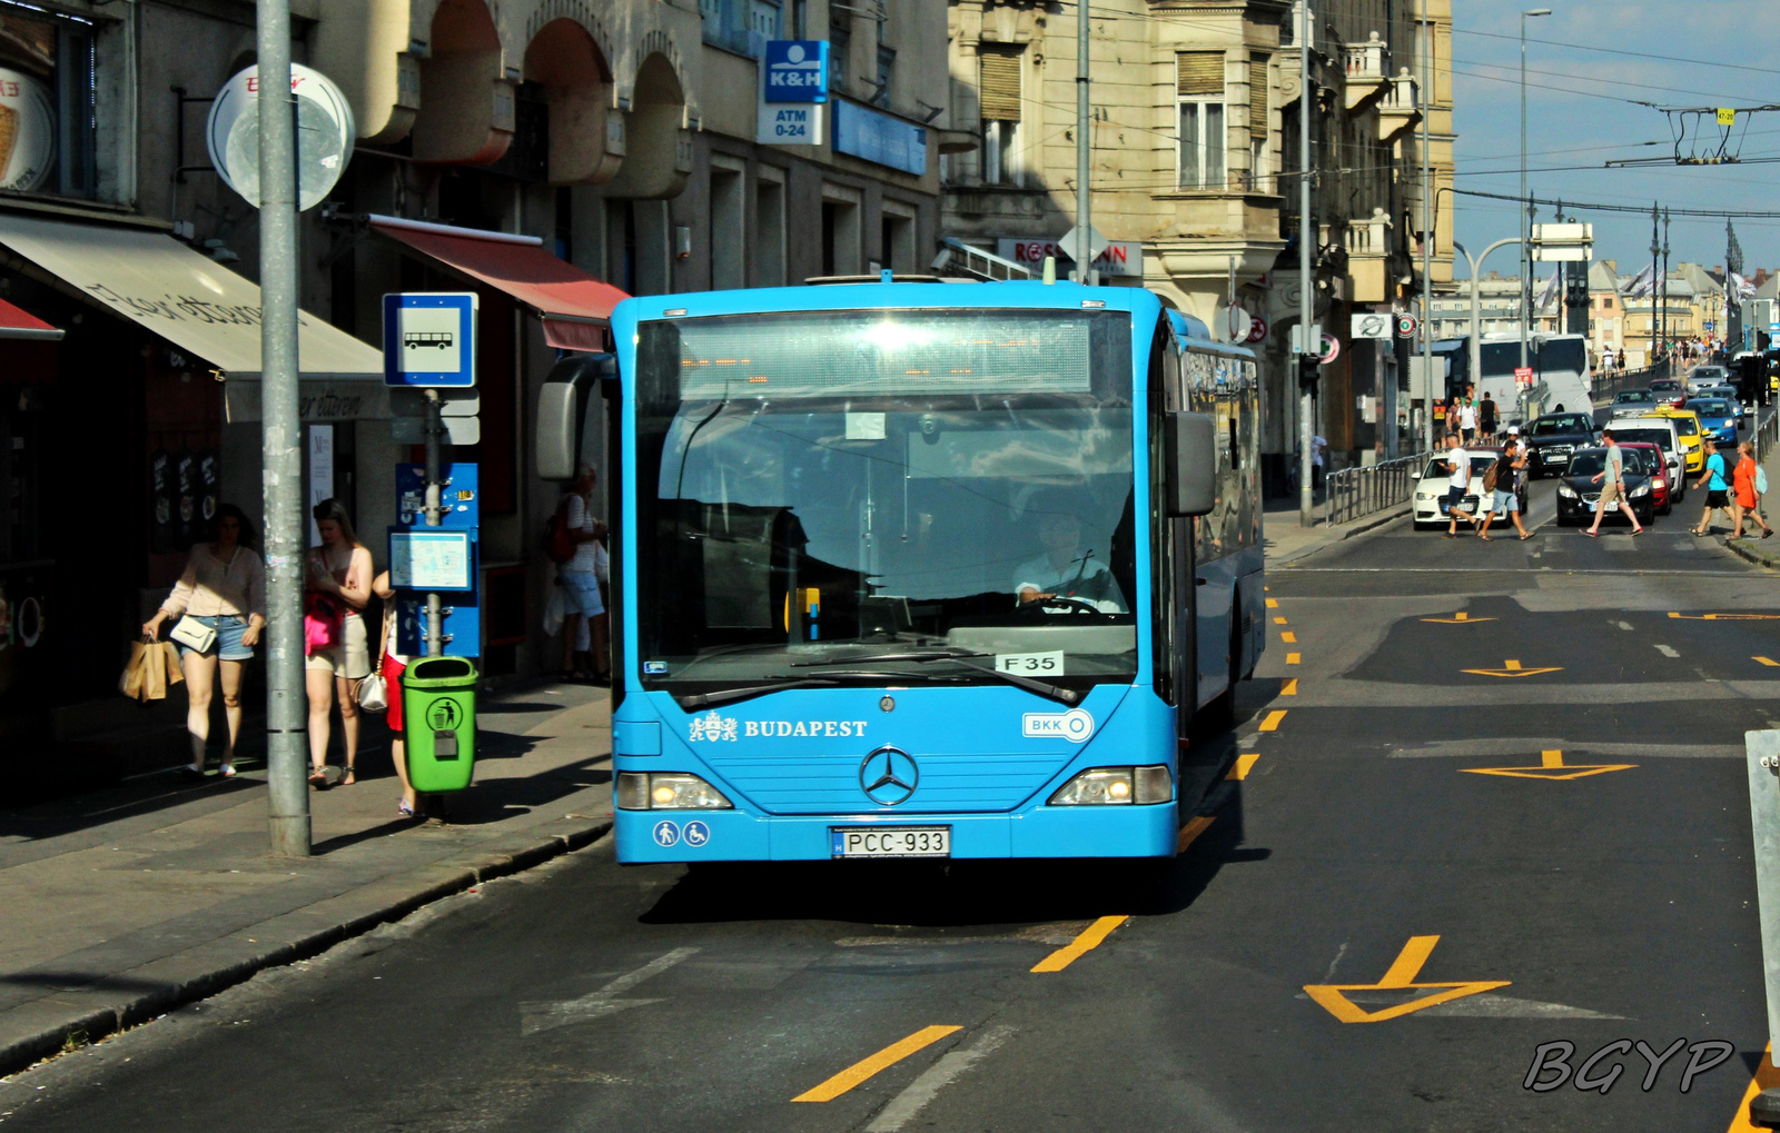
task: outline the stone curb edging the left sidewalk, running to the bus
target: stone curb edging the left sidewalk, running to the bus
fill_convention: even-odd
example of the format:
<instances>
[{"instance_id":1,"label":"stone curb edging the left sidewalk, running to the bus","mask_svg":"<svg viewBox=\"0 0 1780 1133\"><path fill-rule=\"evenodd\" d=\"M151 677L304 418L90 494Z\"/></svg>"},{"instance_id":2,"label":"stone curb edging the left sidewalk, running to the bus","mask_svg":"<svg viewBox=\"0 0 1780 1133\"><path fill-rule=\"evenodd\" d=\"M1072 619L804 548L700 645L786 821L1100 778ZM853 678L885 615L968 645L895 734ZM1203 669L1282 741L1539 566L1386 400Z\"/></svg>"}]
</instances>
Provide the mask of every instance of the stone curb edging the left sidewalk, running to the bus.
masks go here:
<instances>
[{"instance_id":1,"label":"stone curb edging the left sidewalk, running to the bus","mask_svg":"<svg viewBox=\"0 0 1780 1133\"><path fill-rule=\"evenodd\" d=\"M128 1030L132 1026L141 1026L142 1023L164 1016L169 1010L174 1010L187 1003L194 1003L198 1000L206 1000L217 994L219 991L233 987L237 984L244 984L255 975L267 971L271 968L283 968L285 964L294 964L297 960L306 960L310 957L320 955L322 952L333 948L342 941L363 936L379 925L402 920L404 916L425 905L431 905L433 902L438 902L445 896L452 896L454 893L463 893L497 877L522 873L550 859L587 848L589 845L603 838L611 829L612 829L612 820L602 818L570 834L548 834L546 838L534 841L532 845L506 854L490 854L470 864L452 866L449 863L434 863L433 866L411 870L409 873L406 873L406 877L413 877L417 873L438 872L443 866L447 877L425 884L418 889L413 889L406 895L384 900L377 904L374 909L360 912L358 916L347 916L335 923L326 923L317 928L297 932L294 939L288 939L281 944L265 946L255 952L253 955L231 959L226 962L215 962L215 966L199 971L198 975L190 975L185 978L174 976L174 978L155 980L155 985L128 994L121 1000L114 1000L110 1003L105 1003L103 1000L117 992L105 991L101 987L94 989L93 985L87 985L87 987L69 987L66 992L55 996L53 1000L37 1000L34 1003L20 1005L5 1012L5 1016L53 1012L57 1017L53 1021L46 1019L36 1025L25 1023L21 1030L27 1030L28 1033L0 1035L0 1078L16 1074L37 1062L53 1058L69 1042L75 1042L77 1046L98 1042L100 1039L107 1039L117 1032ZM404 875L381 879L381 884L388 886L390 882L399 882L400 877ZM347 900L352 896L352 893L363 893L365 889L370 889L377 884L379 882L367 882L358 889L351 889L347 893L340 893L331 898L322 898L320 902L315 902L306 909L317 909L319 905ZM294 909L283 914L283 918L301 916L303 912L304 909ZM276 921L281 918L272 918L272 920ZM190 952L201 953L205 948L226 948L228 943L235 939L247 941L246 932L263 932L263 928L247 925L230 936L199 944ZM162 957L160 960L144 964L142 968L137 969L137 973L148 973L153 971L155 968L174 966L178 964L178 960L180 960L178 955ZM119 973L119 975L128 976L130 973ZM116 978L117 976L112 976L112 980ZM107 980L98 980L96 984L103 982ZM91 998L101 1000L101 1003L89 1008L75 1007L75 1001ZM66 1012L71 1007L75 1008L77 1014L69 1016ZM0 1017L0 1025L4 1023L5 1017Z\"/></svg>"}]
</instances>

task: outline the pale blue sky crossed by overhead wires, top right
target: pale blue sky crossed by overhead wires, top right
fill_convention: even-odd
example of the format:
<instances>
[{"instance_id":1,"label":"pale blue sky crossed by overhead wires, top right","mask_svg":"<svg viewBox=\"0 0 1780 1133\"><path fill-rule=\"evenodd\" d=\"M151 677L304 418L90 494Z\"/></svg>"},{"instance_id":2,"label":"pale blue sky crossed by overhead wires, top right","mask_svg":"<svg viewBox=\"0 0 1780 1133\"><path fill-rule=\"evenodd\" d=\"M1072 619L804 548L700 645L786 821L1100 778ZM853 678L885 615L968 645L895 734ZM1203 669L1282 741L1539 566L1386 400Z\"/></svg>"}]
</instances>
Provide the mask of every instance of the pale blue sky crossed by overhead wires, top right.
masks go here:
<instances>
[{"instance_id":1,"label":"pale blue sky crossed by overhead wires, top right","mask_svg":"<svg viewBox=\"0 0 1780 1133\"><path fill-rule=\"evenodd\" d=\"M1771 4L1759 0L1452 0L1456 189L1520 192L1518 12L1540 4L1552 14L1527 20L1533 196L1641 208L1641 215L1575 210L1577 221L1595 226L1595 258L1616 260L1627 274L1650 261L1652 201L1670 208L1773 212L1771 219L1734 224L1748 274L1757 267L1780 269L1780 110L1739 114L1732 130L1730 153L1773 164L1682 167L1671 164L1670 117L1632 105L1780 103L1780 20ZM1707 141L1716 148L1716 119L1705 123ZM1602 167L1614 158L1670 164ZM1440 194L1440 206L1454 197L1458 242L1472 254L1515 235L1511 201ZM1550 221L1550 208L1541 208L1538 219ZM1723 215L1675 217L1670 265L1684 260L1707 267L1725 261ZM1492 270L1511 276L1513 253L1493 253L1483 265L1485 277ZM1461 256L1454 276L1467 272Z\"/></svg>"}]
</instances>

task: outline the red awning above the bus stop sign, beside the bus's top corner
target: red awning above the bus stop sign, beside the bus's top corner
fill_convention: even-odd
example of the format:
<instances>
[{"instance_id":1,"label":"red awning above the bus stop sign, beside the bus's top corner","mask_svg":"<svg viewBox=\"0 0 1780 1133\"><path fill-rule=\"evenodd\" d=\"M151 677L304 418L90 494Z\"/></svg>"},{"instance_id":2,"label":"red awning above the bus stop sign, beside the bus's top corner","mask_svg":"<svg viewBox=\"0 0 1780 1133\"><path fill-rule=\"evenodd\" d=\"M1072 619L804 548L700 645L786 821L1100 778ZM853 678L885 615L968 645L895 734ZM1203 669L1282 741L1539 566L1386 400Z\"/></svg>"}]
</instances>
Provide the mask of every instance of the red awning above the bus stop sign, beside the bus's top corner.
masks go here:
<instances>
[{"instance_id":1,"label":"red awning above the bus stop sign, beside the bus's top corner","mask_svg":"<svg viewBox=\"0 0 1780 1133\"><path fill-rule=\"evenodd\" d=\"M538 237L379 215L370 217L370 226L532 308L543 320L545 342L557 350L603 350L612 306L628 299L611 283L552 256Z\"/></svg>"}]
</instances>

